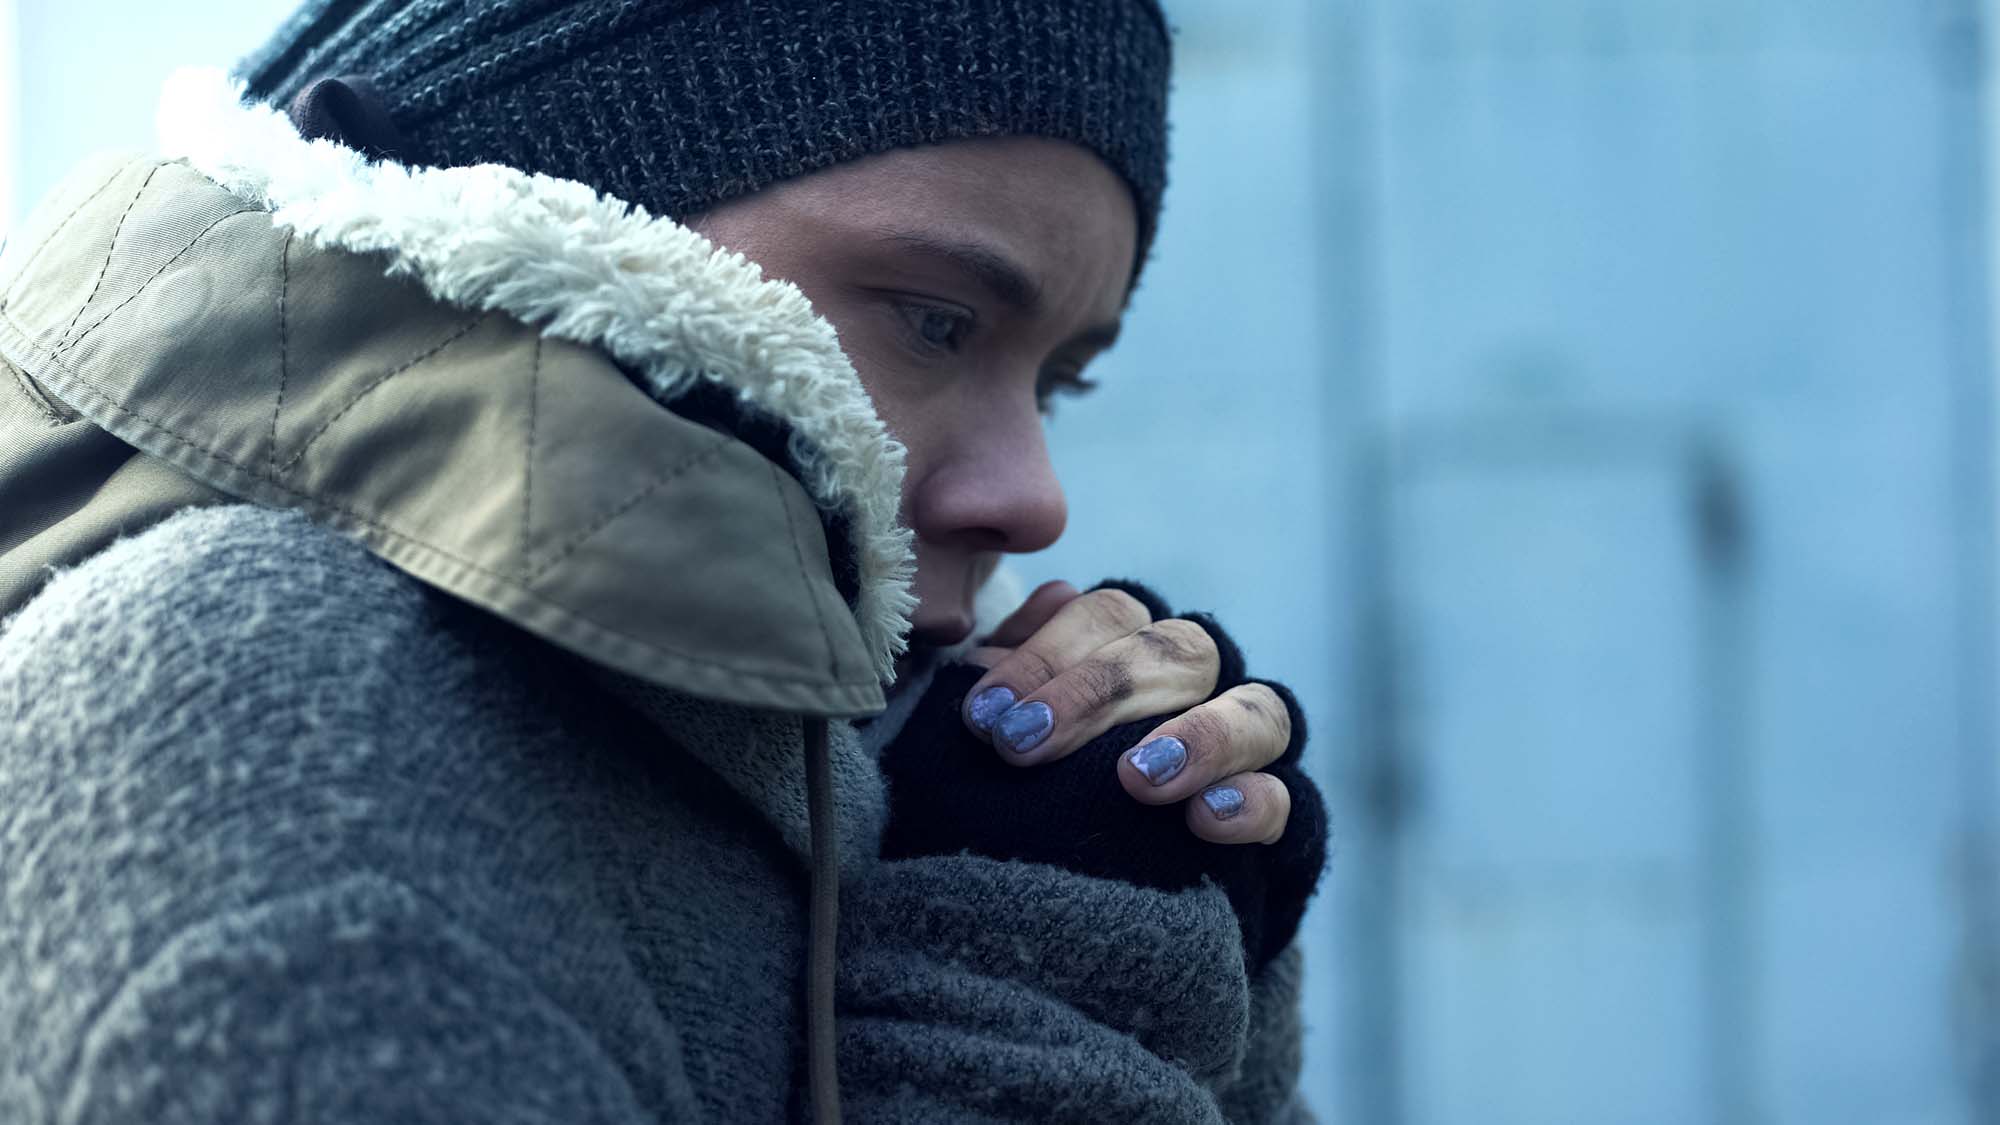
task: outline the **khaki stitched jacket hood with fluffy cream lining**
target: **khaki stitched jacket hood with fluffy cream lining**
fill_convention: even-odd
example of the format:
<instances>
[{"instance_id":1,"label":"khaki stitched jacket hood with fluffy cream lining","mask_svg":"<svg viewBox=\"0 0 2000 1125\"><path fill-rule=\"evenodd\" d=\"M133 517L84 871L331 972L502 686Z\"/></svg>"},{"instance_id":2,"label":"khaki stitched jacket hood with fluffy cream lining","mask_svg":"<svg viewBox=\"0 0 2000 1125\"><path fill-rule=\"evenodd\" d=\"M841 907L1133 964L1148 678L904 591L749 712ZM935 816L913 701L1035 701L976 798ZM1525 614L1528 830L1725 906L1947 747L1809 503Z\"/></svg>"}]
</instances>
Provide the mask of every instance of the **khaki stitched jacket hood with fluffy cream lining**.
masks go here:
<instances>
[{"instance_id":1,"label":"khaki stitched jacket hood with fluffy cream lining","mask_svg":"<svg viewBox=\"0 0 2000 1125\"><path fill-rule=\"evenodd\" d=\"M234 496L660 687L882 707L904 454L794 286L582 184L302 140L220 72L160 132L0 254L0 615L78 526ZM670 408L700 386L788 464Z\"/></svg>"}]
</instances>

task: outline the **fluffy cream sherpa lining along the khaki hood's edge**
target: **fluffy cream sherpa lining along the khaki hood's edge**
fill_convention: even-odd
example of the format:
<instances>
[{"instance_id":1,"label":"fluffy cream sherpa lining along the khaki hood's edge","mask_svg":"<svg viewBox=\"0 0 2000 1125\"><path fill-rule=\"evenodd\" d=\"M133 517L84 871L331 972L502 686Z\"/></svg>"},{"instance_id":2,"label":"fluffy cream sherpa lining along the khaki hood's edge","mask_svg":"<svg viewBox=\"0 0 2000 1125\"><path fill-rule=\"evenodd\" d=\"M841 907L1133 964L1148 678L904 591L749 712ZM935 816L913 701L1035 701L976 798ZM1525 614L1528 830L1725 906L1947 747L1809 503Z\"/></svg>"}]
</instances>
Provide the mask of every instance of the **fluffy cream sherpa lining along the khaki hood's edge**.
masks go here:
<instances>
[{"instance_id":1,"label":"fluffy cream sherpa lining along the khaki hood's edge","mask_svg":"<svg viewBox=\"0 0 2000 1125\"><path fill-rule=\"evenodd\" d=\"M854 514L854 617L876 675L894 677L916 609L912 536L896 520L904 448L798 286L574 180L500 164L408 168L306 140L220 70L168 78L158 134L162 154L316 246L382 254L390 274L438 300L602 348L656 400L706 378L790 422L816 452L806 488Z\"/></svg>"}]
</instances>

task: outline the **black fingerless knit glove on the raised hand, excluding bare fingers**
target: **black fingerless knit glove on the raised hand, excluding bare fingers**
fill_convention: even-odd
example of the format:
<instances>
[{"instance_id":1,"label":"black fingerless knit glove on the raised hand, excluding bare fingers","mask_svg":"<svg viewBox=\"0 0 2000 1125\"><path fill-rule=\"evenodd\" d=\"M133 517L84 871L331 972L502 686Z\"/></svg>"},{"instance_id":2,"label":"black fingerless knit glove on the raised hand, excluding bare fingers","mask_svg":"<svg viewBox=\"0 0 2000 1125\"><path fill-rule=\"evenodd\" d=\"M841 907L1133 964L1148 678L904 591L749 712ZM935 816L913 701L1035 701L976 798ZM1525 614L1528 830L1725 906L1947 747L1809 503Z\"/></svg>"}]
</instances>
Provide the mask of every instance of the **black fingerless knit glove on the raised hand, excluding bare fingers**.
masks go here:
<instances>
[{"instance_id":1,"label":"black fingerless knit glove on the raised hand, excluding bare fingers","mask_svg":"<svg viewBox=\"0 0 2000 1125\"><path fill-rule=\"evenodd\" d=\"M972 853L1162 891L1214 883L1256 971L1298 933L1326 863L1326 805L1298 763L1306 721L1282 685L1244 677L1242 653L1212 621L1176 619L1144 587L1108 587L1078 595L1050 583L974 651L980 663L936 669L882 747L890 799L882 859ZM1116 635L1086 649L1106 633ZM1164 639L1180 641L1174 653ZM1066 647L1072 655L1060 659ZM1024 669L1024 679L1010 669ZM1102 677L1102 691L1086 691L1078 683L1086 675ZM1046 733L1026 753L996 751L970 721L980 691L1012 685L1026 695L1014 705L1048 707ZM1120 715L1130 719L1114 725ZM998 715L988 705L980 719ZM1172 777L1146 763L1162 779L1152 785L1132 751L1164 735L1178 737L1186 755ZM1236 815L1218 817L1200 799L1220 787L1244 793ZM1268 847L1216 847L1252 841Z\"/></svg>"}]
</instances>

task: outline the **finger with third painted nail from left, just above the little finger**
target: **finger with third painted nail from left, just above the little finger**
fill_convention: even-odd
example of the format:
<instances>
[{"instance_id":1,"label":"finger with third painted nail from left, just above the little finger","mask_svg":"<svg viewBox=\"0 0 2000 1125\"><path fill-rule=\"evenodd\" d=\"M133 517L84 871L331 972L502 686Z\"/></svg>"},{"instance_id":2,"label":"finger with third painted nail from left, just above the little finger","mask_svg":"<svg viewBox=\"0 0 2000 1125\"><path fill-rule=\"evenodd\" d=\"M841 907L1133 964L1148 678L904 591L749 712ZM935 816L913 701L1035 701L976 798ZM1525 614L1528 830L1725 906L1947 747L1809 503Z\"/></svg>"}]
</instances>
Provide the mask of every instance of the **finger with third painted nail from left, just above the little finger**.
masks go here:
<instances>
[{"instance_id":1,"label":"finger with third painted nail from left, just above the little finger","mask_svg":"<svg viewBox=\"0 0 2000 1125\"><path fill-rule=\"evenodd\" d=\"M1154 727L1118 759L1118 781L1146 805L1170 805L1268 767L1290 741L1292 717L1278 693L1246 683Z\"/></svg>"}]
</instances>

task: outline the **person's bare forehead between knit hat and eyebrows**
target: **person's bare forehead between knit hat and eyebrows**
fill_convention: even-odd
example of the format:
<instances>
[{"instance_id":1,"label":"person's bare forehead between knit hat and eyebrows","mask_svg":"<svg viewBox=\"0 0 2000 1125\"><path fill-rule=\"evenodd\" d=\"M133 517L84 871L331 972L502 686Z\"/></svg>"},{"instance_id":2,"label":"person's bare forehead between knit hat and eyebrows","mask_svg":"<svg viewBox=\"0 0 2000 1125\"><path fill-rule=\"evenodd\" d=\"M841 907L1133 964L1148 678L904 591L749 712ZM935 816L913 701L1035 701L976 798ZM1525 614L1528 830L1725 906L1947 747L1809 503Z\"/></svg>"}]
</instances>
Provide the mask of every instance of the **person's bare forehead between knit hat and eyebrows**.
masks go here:
<instances>
[{"instance_id":1,"label":"person's bare forehead between knit hat and eyebrows","mask_svg":"<svg viewBox=\"0 0 2000 1125\"><path fill-rule=\"evenodd\" d=\"M992 246L1052 302L1124 304L1138 240L1132 192L1096 154L1038 136L896 148L764 194L824 236Z\"/></svg>"}]
</instances>

